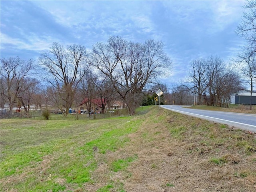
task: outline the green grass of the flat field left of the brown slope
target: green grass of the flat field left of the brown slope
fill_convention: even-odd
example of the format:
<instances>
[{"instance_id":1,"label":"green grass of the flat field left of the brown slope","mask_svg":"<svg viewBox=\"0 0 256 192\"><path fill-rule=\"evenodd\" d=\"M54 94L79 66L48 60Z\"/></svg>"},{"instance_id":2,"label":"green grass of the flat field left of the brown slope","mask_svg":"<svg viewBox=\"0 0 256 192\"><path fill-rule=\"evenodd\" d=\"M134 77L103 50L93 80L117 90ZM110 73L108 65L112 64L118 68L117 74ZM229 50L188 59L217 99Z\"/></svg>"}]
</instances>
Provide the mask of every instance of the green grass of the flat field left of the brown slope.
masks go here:
<instances>
[{"instance_id":1,"label":"green grass of the flat field left of the brown slope","mask_svg":"<svg viewBox=\"0 0 256 192\"><path fill-rule=\"evenodd\" d=\"M12 186L19 191L64 190L65 186L53 182L59 177L78 187L93 182L91 173L98 166L95 151L106 154L122 148L129 142L127 135L135 132L142 122L143 119L130 116L86 122L68 118L1 120L1 179L22 176L24 170L29 170L22 184ZM38 174L34 167L41 166L46 157L50 157L47 168ZM126 159L122 166L127 166L130 160ZM49 174L51 180L47 179Z\"/></svg>"}]
</instances>

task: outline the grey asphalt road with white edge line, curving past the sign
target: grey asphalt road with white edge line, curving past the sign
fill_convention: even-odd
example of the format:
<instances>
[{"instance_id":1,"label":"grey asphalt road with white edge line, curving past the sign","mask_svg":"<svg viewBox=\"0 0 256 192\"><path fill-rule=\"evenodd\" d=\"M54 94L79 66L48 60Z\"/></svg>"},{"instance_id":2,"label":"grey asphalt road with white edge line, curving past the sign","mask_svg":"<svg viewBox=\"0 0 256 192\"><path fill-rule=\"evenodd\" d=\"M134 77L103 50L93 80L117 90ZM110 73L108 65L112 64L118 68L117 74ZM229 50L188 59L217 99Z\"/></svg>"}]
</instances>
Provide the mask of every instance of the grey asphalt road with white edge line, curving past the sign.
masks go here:
<instances>
[{"instance_id":1,"label":"grey asphalt road with white edge line, curving past the sign","mask_svg":"<svg viewBox=\"0 0 256 192\"><path fill-rule=\"evenodd\" d=\"M162 105L160 107L213 122L227 124L243 130L256 132L256 114L190 109L177 105Z\"/></svg>"}]
</instances>

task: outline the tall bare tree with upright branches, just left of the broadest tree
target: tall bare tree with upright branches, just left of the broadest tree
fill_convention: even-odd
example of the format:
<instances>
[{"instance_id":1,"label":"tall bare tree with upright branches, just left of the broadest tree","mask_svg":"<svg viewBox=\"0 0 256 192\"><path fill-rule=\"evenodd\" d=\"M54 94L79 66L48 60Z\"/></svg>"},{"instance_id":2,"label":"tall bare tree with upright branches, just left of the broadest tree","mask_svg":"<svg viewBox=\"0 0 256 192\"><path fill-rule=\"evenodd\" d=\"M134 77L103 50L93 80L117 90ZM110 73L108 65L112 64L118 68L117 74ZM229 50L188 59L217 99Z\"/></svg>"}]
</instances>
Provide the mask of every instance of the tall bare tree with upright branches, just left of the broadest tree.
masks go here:
<instances>
[{"instance_id":1,"label":"tall bare tree with upright branches, just left of the broadest tree","mask_svg":"<svg viewBox=\"0 0 256 192\"><path fill-rule=\"evenodd\" d=\"M66 109L72 106L78 83L83 78L81 67L86 65L88 53L82 45L73 44L66 49L54 42L49 52L42 53L39 61L49 75L48 82L58 92Z\"/></svg>"}]
</instances>

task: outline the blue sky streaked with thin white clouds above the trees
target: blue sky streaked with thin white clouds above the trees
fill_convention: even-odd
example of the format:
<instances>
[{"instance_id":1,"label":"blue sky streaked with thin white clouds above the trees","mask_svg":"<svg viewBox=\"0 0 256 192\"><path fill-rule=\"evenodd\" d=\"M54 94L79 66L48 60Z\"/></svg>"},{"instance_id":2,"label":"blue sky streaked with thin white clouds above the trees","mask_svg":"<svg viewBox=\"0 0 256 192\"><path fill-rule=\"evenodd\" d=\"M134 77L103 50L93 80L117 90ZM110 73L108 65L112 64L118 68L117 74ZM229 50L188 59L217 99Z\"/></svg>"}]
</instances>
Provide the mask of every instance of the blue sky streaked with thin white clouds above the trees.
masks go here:
<instances>
[{"instance_id":1,"label":"blue sky streaked with thin white clouds above the trees","mask_svg":"<svg viewBox=\"0 0 256 192\"><path fill-rule=\"evenodd\" d=\"M164 42L173 69L164 82L188 75L190 60L236 57L244 41L234 31L245 1L0 1L1 58L37 58L53 42L83 44L118 35Z\"/></svg>"}]
</instances>

